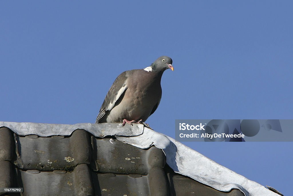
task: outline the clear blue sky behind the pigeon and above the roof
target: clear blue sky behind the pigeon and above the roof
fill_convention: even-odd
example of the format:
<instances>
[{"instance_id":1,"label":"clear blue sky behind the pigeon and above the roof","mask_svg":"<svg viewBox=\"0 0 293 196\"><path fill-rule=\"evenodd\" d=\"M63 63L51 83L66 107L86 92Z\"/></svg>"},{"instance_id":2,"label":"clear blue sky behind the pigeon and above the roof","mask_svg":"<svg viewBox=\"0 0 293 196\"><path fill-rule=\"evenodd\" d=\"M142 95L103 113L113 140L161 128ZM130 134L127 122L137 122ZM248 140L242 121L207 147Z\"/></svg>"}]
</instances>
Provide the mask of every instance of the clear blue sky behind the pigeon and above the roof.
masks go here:
<instances>
[{"instance_id":1,"label":"clear blue sky behind the pigeon and above the roof","mask_svg":"<svg viewBox=\"0 0 293 196\"><path fill-rule=\"evenodd\" d=\"M147 120L293 119L291 1L0 3L1 121L94 123L115 78L162 55L174 72ZM291 194L293 143L185 145Z\"/></svg>"}]
</instances>

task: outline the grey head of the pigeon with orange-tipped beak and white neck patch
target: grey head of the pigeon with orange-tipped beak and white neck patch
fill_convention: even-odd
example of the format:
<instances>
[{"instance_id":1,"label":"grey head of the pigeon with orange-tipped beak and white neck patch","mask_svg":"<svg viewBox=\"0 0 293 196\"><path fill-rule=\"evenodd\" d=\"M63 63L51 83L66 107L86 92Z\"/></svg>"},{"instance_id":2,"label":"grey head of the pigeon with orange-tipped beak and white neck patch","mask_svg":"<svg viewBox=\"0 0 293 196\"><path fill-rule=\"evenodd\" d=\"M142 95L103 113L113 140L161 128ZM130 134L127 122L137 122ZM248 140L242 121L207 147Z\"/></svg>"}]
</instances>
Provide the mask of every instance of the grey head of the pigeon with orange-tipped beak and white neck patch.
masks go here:
<instances>
[{"instance_id":1,"label":"grey head of the pigeon with orange-tipped beak and white neck patch","mask_svg":"<svg viewBox=\"0 0 293 196\"><path fill-rule=\"evenodd\" d=\"M159 57L151 66L144 68L145 71L165 71L166 69L171 69L174 71L172 66L172 59L168 56Z\"/></svg>"}]
</instances>

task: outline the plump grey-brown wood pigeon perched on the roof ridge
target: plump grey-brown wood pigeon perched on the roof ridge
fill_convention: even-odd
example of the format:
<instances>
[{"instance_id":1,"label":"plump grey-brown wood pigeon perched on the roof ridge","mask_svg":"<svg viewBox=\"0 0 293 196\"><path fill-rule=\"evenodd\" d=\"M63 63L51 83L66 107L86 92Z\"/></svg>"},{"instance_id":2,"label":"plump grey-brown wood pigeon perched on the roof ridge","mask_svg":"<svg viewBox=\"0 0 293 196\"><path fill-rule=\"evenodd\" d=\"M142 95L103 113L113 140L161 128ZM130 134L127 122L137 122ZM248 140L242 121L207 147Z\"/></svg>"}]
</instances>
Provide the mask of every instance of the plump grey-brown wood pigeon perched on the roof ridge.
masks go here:
<instances>
[{"instance_id":1,"label":"plump grey-brown wood pigeon perched on the roof ridge","mask_svg":"<svg viewBox=\"0 0 293 196\"><path fill-rule=\"evenodd\" d=\"M147 120L160 103L161 77L168 68L173 71L172 59L161 56L144 69L121 73L108 91L96 123Z\"/></svg>"}]
</instances>

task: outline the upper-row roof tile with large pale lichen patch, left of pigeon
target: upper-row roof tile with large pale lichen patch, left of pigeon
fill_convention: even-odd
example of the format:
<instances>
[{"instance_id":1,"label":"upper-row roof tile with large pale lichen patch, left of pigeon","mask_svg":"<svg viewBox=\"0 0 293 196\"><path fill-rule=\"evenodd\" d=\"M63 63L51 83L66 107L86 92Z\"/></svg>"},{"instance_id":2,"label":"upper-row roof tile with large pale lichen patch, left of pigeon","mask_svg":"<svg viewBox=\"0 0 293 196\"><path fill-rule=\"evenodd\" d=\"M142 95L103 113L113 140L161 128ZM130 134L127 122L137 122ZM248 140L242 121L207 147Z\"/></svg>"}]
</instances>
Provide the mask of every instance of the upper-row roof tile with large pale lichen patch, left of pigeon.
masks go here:
<instances>
[{"instance_id":1,"label":"upper-row roof tile with large pale lichen patch, left of pigeon","mask_svg":"<svg viewBox=\"0 0 293 196\"><path fill-rule=\"evenodd\" d=\"M71 137L37 135L19 136L17 167L23 170L70 170L91 161L91 145L85 130L75 130Z\"/></svg>"}]
</instances>

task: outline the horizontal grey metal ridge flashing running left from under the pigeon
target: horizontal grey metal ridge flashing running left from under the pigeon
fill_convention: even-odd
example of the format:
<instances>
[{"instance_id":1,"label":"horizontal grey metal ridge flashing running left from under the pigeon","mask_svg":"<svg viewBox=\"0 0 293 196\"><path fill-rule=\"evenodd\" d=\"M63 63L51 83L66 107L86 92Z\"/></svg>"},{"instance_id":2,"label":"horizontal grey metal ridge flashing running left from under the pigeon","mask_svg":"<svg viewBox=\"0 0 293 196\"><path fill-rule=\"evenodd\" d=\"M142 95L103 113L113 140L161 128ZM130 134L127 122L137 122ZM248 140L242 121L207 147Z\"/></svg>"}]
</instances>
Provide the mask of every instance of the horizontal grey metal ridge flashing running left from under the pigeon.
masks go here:
<instances>
[{"instance_id":1,"label":"horizontal grey metal ridge flashing running left from under the pigeon","mask_svg":"<svg viewBox=\"0 0 293 196\"><path fill-rule=\"evenodd\" d=\"M0 128L7 127L18 135L38 135L40 137L49 137L53 135L71 135L76 129L84 129L96 137L103 138L107 135L120 136L137 136L144 132L144 125L133 124L133 126L122 123L77 123L74 125L65 124L48 124L48 123L18 123L18 122L2 122Z\"/></svg>"}]
</instances>

